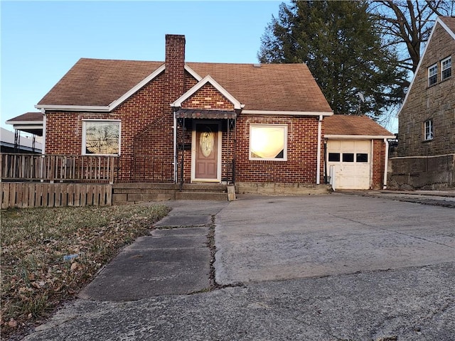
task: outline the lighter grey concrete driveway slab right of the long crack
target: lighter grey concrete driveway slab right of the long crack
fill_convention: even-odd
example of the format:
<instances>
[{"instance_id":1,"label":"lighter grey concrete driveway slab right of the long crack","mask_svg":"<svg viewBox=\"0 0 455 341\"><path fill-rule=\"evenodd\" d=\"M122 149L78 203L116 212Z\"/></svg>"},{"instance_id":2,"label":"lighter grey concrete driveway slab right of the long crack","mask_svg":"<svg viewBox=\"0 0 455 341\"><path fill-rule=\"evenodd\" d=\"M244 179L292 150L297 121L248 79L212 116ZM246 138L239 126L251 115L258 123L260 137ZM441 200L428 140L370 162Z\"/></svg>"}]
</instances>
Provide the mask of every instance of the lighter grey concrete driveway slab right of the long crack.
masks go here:
<instances>
[{"instance_id":1,"label":"lighter grey concrete driveway slab right of the long crack","mask_svg":"<svg viewBox=\"0 0 455 341\"><path fill-rule=\"evenodd\" d=\"M356 195L243 196L216 216L222 285L455 259L455 210Z\"/></svg>"}]
</instances>

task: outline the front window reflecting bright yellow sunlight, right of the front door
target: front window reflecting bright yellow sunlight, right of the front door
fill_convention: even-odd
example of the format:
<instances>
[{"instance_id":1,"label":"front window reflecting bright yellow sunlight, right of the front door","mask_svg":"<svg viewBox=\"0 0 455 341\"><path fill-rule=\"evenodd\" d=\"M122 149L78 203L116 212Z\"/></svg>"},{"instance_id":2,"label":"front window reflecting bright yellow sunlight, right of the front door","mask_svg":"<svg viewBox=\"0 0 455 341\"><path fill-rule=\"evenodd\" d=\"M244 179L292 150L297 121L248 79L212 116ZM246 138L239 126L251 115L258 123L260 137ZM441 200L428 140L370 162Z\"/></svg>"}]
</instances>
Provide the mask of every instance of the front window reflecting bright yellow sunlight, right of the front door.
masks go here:
<instances>
[{"instance_id":1,"label":"front window reflecting bright yellow sunlight, right of the front door","mask_svg":"<svg viewBox=\"0 0 455 341\"><path fill-rule=\"evenodd\" d=\"M287 125L252 124L250 160L287 161Z\"/></svg>"}]
</instances>

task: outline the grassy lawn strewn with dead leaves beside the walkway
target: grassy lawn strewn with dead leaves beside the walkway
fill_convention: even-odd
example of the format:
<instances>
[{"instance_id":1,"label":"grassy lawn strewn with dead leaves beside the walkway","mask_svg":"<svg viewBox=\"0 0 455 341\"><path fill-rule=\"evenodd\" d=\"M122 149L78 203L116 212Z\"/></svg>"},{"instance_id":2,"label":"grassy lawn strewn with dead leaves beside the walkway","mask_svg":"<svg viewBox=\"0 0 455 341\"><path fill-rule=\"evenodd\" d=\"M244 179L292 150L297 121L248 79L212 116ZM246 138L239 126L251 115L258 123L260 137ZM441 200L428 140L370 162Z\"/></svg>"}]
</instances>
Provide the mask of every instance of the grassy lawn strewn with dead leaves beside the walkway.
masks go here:
<instances>
[{"instance_id":1,"label":"grassy lawn strewn with dead leaves beside the walkway","mask_svg":"<svg viewBox=\"0 0 455 341\"><path fill-rule=\"evenodd\" d=\"M1 339L41 323L169 210L164 205L1 210Z\"/></svg>"}]
</instances>

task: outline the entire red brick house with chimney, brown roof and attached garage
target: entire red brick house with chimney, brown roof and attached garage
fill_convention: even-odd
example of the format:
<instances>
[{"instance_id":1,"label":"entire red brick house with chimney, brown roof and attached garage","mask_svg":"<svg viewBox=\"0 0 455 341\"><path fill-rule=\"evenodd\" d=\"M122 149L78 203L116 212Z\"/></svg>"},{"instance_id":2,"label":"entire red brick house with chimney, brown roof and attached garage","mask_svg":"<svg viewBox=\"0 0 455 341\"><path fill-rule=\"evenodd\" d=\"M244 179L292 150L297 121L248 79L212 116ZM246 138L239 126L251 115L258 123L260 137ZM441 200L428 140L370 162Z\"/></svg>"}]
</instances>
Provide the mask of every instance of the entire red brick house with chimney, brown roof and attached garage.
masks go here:
<instances>
[{"instance_id":1,"label":"entire red brick house with chimney, brown roof and attached garage","mask_svg":"<svg viewBox=\"0 0 455 341\"><path fill-rule=\"evenodd\" d=\"M176 35L164 63L80 59L36 108L45 154L118 156L115 183L235 183L238 193L326 188L326 161L343 164L344 188L382 188L394 137L366 117L333 117L304 64L187 63Z\"/></svg>"}]
</instances>

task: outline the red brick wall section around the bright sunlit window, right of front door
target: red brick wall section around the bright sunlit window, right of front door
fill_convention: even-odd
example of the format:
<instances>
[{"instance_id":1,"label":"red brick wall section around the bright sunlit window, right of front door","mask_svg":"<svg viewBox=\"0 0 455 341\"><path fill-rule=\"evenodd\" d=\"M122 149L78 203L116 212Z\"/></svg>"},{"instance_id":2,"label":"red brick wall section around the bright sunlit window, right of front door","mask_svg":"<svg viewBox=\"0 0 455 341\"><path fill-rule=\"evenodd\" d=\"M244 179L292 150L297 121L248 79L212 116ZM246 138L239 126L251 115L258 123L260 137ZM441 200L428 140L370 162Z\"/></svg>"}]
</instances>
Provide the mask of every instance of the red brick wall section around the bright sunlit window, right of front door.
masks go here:
<instances>
[{"instance_id":1,"label":"red brick wall section around the bright sunlit window, right of front door","mask_svg":"<svg viewBox=\"0 0 455 341\"><path fill-rule=\"evenodd\" d=\"M287 124L287 161L250 161L250 124ZM240 114L237 119L236 181L316 183L317 138L316 117L253 117Z\"/></svg>"}]
</instances>

